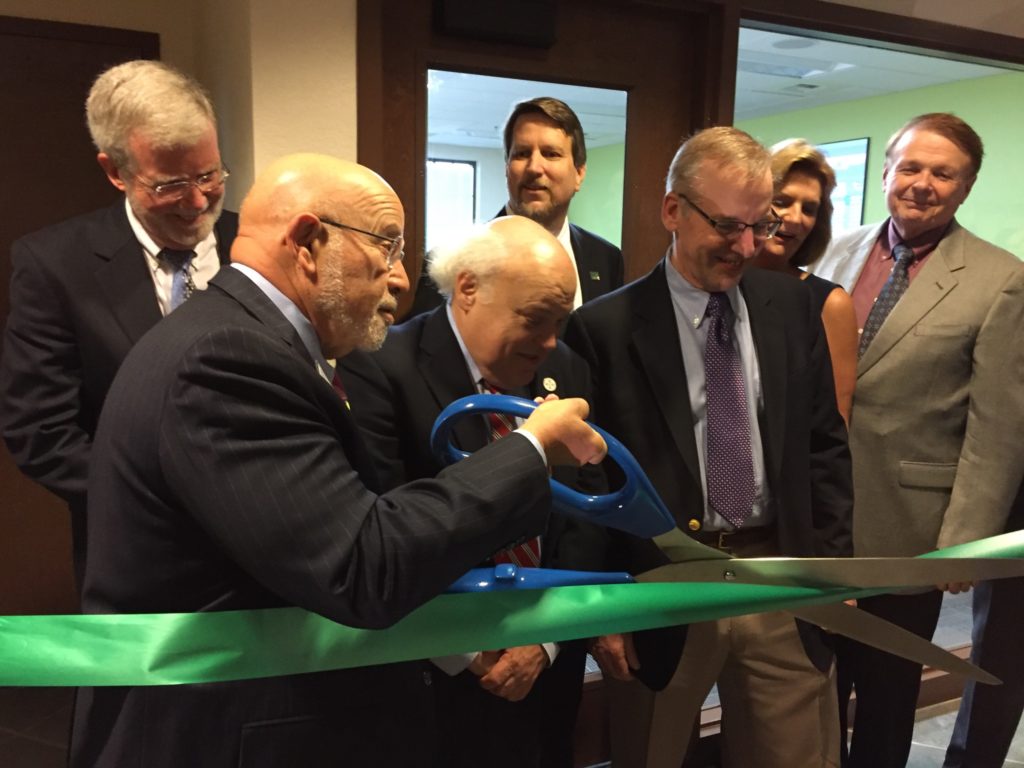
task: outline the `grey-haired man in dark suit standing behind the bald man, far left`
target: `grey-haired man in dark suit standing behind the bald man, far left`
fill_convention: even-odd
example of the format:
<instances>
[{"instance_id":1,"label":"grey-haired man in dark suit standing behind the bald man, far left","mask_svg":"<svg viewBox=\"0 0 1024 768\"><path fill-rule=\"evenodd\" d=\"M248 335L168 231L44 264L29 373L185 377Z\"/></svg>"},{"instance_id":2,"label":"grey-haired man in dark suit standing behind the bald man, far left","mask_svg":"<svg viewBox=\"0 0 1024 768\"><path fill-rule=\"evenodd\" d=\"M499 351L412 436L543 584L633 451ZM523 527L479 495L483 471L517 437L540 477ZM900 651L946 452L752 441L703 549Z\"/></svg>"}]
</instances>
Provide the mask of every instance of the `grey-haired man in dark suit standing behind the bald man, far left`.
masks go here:
<instances>
[{"instance_id":1,"label":"grey-haired man in dark suit standing behind the bald man, far left","mask_svg":"<svg viewBox=\"0 0 1024 768\"><path fill-rule=\"evenodd\" d=\"M23 472L69 503L79 586L86 469L114 374L173 308L175 286L205 288L226 263L238 226L221 213L227 170L198 83L159 61L119 65L93 84L86 117L125 199L14 243L0 364L3 438ZM176 266L163 249L194 256Z\"/></svg>"}]
</instances>

